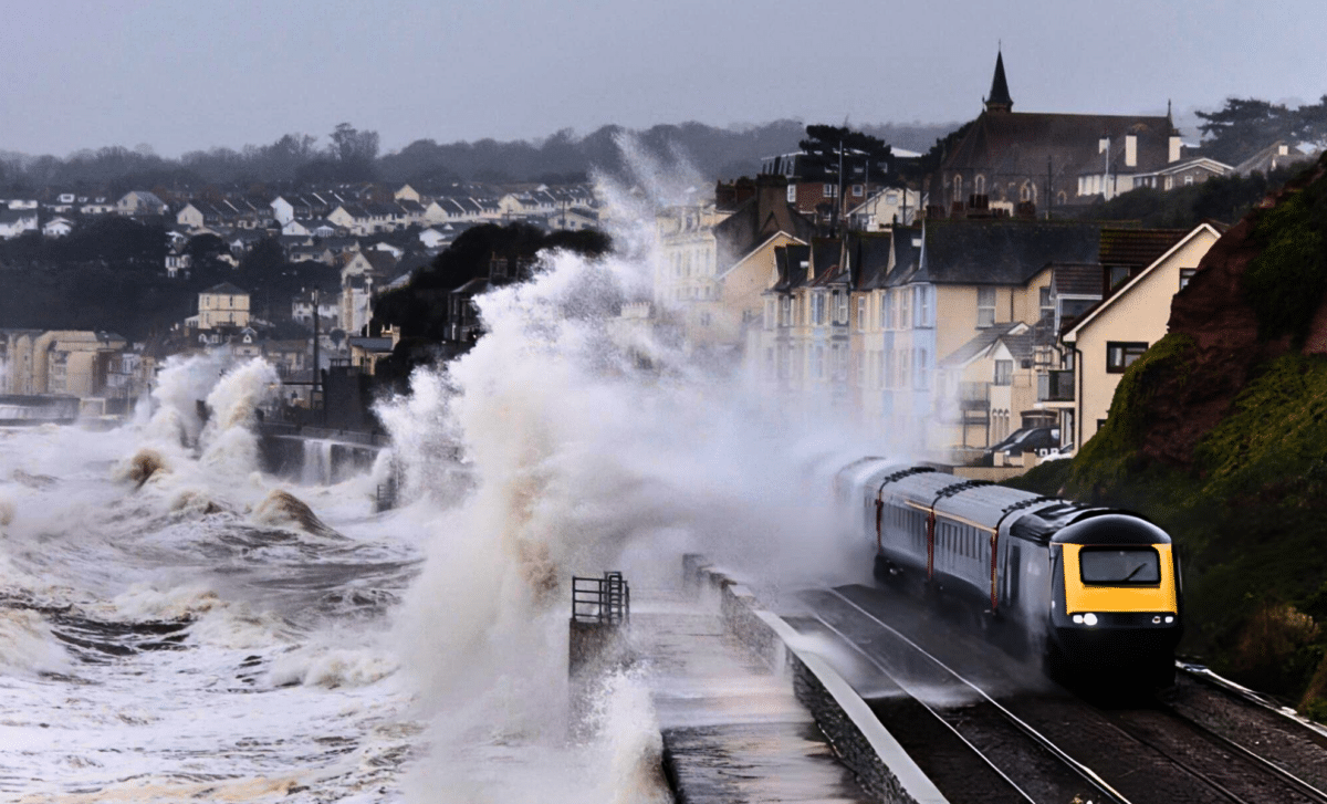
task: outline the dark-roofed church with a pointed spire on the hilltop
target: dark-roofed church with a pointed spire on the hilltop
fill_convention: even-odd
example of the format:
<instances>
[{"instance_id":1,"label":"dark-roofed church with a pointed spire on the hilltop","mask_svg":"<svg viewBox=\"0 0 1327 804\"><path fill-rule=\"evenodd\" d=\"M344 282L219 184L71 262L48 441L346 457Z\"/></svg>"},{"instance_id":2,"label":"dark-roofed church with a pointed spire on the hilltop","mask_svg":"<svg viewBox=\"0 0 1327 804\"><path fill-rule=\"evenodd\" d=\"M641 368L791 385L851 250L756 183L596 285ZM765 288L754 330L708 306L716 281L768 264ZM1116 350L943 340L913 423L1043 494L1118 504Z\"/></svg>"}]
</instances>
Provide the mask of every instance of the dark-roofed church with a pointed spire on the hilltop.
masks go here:
<instances>
[{"instance_id":1,"label":"dark-roofed church with a pointed spire on the hilltop","mask_svg":"<svg viewBox=\"0 0 1327 804\"><path fill-rule=\"evenodd\" d=\"M929 214L1054 214L1109 200L1135 187L1170 190L1231 168L1186 158L1164 117L1014 111L1005 54L985 110L930 176Z\"/></svg>"}]
</instances>

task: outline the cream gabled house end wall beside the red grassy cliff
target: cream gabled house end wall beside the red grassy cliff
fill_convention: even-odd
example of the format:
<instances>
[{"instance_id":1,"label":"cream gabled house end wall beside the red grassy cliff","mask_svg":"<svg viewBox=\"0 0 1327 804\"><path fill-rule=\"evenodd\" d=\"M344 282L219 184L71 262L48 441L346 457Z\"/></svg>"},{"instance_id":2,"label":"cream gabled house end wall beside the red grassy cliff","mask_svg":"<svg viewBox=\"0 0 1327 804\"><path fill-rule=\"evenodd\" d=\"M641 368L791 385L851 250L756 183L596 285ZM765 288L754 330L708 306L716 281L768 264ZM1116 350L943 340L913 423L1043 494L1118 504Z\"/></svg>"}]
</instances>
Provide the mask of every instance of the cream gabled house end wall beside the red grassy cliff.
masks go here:
<instances>
[{"instance_id":1,"label":"cream gabled house end wall beside the red grassy cliff","mask_svg":"<svg viewBox=\"0 0 1327 804\"><path fill-rule=\"evenodd\" d=\"M1059 407L1072 415L1066 429L1072 430L1075 444L1085 443L1105 422L1121 375L1166 334L1170 300L1220 237L1212 224L1198 224L1064 333L1075 369L1075 401Z\"/></svg>"}]
</instances>

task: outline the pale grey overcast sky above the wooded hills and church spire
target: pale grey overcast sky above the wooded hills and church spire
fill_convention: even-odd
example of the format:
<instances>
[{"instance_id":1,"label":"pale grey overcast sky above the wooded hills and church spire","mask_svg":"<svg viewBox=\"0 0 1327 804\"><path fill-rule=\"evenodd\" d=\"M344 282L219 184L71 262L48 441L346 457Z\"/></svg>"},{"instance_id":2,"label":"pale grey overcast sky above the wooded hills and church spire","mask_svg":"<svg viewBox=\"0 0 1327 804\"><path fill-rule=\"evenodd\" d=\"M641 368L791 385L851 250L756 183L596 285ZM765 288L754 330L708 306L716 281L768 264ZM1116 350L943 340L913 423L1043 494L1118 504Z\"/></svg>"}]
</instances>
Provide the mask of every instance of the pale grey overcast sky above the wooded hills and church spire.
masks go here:
<instances>
[{"instance_id":1,"label":"pale grey overcast sky above the wooded hills and church spire","mask_svg":"<svg viewBox=\"0 0 1327 804\"><path fill-rule=\"evenodd\" d=\"M1327 93L1323 0L0 0L0 150L950 122Z\"/></svg>"}]
</instances>

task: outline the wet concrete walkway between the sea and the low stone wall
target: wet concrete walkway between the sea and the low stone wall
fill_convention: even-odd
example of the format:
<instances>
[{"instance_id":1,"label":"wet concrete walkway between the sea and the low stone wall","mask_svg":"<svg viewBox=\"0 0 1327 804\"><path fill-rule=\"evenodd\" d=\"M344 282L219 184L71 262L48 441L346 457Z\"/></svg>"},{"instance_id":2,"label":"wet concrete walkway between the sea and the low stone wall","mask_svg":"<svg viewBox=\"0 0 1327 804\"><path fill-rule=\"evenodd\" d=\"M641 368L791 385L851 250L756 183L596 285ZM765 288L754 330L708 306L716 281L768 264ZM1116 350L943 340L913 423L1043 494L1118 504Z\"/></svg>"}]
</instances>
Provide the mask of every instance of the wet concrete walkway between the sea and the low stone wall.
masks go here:
<instances>
[{"instance_id":1,"label":"wet concrete walkway between the sea and the low stone wall","mask_svg":"<svg viewBox=\"0 0 1327 804\"><path fill-rule=\"evenodd\" d=\"M678 801L864 803L788 675L681 588L632 590L632 641L646 667Z\"/></svg>"}]
</instances>

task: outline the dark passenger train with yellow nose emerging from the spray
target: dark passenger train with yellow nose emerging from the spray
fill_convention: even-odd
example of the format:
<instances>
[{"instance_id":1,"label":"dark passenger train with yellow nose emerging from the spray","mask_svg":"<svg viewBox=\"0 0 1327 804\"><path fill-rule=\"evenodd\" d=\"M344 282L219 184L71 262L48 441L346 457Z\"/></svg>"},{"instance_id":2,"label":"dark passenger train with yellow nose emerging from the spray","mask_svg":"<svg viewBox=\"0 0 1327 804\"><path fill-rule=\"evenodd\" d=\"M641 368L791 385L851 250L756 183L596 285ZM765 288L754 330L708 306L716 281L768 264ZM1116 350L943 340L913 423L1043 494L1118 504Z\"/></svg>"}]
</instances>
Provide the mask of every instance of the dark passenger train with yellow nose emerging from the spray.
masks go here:
<instances>
[{"instance_id":1,"label":"dark passenger train with yellow nose emerging from the spray","mask_svg":"<svg viewBox=\"0 0 1327 804\"><path fill-rule=\"evenodd\" d=\"M874 541L877 578L918 578L1013 630L1050 675L1174 682L1180 561L1145 517L885 458L844 466L833 491Z\"/></svg>"}]
</instances>

